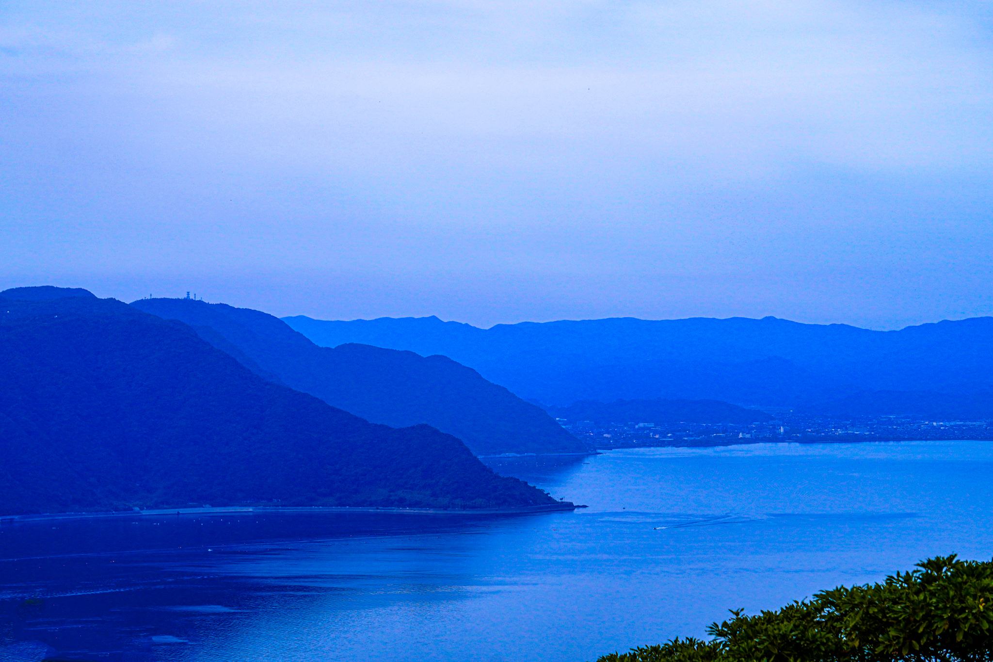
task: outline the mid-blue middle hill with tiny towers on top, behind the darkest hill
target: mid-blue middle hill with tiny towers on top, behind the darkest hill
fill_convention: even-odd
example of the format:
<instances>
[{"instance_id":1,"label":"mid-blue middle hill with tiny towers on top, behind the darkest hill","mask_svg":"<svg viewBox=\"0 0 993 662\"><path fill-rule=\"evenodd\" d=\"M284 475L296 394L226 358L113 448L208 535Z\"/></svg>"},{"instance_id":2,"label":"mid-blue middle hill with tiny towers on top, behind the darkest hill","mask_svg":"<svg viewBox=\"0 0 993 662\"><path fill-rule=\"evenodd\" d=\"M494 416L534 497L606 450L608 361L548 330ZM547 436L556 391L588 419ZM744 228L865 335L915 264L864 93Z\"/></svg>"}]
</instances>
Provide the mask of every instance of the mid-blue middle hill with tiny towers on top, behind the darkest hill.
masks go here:
<instances>
[{"instance_id":1,"label":"mid-blue middle hill with tiny towers on top, behind the darkest hill","mask_svg":"<svg viewBox=\"0 0 993 662\"><path fill-rule=\"evenodd\" d=\"M257 374L375 423L427 423L477 455L584 453L539 407L446 356L349 343L319 347L266 313L190 299L132 306L180 320Z\"/></svg>"}]
</instances>

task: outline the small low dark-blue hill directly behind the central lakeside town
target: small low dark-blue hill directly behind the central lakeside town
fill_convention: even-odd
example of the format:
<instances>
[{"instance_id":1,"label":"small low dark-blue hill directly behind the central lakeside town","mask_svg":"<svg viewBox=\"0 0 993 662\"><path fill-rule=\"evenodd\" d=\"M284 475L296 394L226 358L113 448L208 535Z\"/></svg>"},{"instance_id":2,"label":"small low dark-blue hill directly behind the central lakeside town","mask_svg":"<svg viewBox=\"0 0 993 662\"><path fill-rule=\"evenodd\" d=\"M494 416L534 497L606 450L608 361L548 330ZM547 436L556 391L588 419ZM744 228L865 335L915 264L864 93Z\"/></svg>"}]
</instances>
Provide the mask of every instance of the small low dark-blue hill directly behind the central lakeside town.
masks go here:
<instances>
[{"instance_id":1,"label":"small low dark-blue hill directly behind the central lakeside town","mask_svg":"<svg viewBox=\"0 0 993 662\"><path fill-rule=\"evenodd\" d=\"M594 423L762 423L766 412L745 409L720 400L582 400L568 407L546 407L556 418Z\"/></svg>"}]
</instances>

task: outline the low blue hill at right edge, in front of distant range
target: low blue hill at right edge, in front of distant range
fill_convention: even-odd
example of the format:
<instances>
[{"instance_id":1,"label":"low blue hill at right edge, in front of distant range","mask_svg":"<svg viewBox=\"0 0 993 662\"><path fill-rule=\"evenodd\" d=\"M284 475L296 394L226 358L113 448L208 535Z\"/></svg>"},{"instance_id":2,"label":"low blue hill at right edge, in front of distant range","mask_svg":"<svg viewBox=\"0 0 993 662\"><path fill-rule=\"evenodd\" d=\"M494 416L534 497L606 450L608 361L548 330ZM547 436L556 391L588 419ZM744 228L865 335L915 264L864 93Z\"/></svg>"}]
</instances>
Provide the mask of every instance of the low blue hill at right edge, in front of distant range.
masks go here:
<instances>
[{"instance_id":1,"label":"low blue hill at right edge, in front of distant range","mask_svg":"<svg viewBox=\"0 0 993 662\"><path fill-rule=\"evenodd\" d=\"M929 391L862 391L804 407L827 416L920 416L932 419L993 419L993 393L954 395Z\"/></svg>"}]
</instances>

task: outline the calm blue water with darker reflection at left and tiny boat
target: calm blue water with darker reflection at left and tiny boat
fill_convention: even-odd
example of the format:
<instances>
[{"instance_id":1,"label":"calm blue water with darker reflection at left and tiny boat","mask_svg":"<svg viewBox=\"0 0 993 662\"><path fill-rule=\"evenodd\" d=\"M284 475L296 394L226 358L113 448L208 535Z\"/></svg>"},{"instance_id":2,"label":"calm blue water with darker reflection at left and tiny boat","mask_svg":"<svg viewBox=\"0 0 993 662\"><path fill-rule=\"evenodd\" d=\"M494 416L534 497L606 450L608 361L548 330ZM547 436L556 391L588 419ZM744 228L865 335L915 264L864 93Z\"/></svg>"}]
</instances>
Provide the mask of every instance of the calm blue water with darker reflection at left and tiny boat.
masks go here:
<instances>
[{"instance_id":1,"label":"calm blue water with darker reflection at left and tiny boat","mask_svg":"<svg viewBox=\"0 0 993 662\"><path fill-rule=\"evenodd\" d=\"M0 660L584 662L701 636L729 607L993 556L993 443L493 465L589 508L6 524Z\"/></svg>"}]
</instances>

